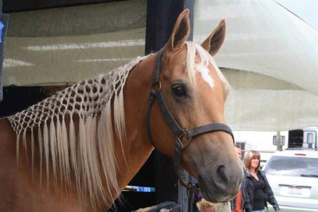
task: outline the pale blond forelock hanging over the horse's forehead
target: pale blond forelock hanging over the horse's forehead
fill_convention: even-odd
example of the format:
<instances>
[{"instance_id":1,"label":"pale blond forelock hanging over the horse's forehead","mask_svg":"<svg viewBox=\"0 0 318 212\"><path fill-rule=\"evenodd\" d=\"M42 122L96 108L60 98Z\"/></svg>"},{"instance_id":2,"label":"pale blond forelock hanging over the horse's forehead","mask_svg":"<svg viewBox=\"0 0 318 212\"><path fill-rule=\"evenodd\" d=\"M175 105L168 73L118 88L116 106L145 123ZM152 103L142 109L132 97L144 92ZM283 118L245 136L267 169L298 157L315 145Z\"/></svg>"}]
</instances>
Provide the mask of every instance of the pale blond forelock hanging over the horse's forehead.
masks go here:
<instances>
[{"instance_id":1,"label":"pale blond forelock hanging over the horse's forehead","mask_svg":"<svg viewBox=\"0 0 318 212\"><path fill-rule=\"evenodd\" d=\"M186 71L189 77L191 85L196 88L196 73L200 72L203 80L205 80L211 88L214 87L214 80L211 75L209 75L209 66L212 65L215 69L218 77L222 82L225 83L227 87L230 87L229 82L224 77L219 67L216 65L213 57L207 52L202 46L192 41L186 42L187 47L187 60L186 60ZM199 60L196 60L198 56ZM199 61L199 62L196 62Z\"/></svg>"}]
</instances>

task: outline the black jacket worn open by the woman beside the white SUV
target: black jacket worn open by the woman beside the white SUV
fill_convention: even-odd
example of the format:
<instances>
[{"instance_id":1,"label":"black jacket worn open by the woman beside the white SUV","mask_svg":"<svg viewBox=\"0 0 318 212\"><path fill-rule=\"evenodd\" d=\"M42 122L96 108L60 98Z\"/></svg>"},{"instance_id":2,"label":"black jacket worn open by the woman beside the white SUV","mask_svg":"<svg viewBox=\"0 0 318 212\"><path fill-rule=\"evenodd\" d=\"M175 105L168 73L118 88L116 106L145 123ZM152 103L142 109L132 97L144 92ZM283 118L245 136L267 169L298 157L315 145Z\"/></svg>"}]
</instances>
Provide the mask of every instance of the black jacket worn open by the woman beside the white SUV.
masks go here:
<instances>
[{"instance_id":1,"label":"black jacket worn open by the woman beside the white SUV","mask_svg":"<svg viewBox=\"0 0 318 212\"><path fill-rule=\"evenodd\" d=\"M265 183L265 207L267 208L267 202L269 202L274 210L280 211L277 201L274 197L272 189L270 188L265 173L263 171L258 170L257 175L264 181ZM242 197L243 197L243 210L244 212L251 212L253 209L253 202L254 202L254 181L252 176L247 172L244 171L244 178L242 182Z\"/></svg>"}]
</instances>

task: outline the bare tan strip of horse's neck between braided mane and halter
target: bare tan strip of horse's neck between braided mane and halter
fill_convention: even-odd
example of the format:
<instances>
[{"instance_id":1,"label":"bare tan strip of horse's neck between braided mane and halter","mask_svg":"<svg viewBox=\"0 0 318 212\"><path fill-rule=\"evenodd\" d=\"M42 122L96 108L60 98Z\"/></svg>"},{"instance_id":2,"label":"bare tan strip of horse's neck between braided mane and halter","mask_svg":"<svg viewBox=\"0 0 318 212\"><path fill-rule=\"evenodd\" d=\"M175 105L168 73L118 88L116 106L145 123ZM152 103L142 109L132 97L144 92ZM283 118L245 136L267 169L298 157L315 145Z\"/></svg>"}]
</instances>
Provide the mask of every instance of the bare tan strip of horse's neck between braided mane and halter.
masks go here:
<instances>
[{"instance_id":1,"label":"bare tan strip of horse's neck between braided mane and halter","mask_svg":"<svg viewBox=\"0 0 318 212\"><path fill-rule=\"evenodd\" d=\"M131 71L124 88L127 129L124 153L127 164L123 159L119 159L121 161L119 170L124 170L118 173L120 189L128 185L154 149L149 141L146 126L148 98L154 66L155 56L153 55ZM118 142L116 143L118 144ZM119 151L120 146L116 145L116 152Z\"/></svg>"}]
</instances>

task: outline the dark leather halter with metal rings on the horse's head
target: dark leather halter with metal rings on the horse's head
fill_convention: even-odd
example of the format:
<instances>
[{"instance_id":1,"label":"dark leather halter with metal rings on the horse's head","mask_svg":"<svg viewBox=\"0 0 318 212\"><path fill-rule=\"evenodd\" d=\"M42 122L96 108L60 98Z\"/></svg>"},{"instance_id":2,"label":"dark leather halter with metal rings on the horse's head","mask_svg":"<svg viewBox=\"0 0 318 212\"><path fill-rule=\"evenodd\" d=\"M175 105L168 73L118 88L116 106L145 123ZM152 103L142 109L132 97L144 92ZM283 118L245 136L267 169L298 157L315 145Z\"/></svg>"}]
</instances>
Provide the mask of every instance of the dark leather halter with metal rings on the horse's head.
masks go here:
<instances>
[{"instance_id":1,"label":"dark leather halter with metal rings on the horse's head","mask_svg":"<svg viewBox=\"0 0 318 212\"><path fill-rule=\"evenodd\" d=\"M174 132L176 136L176 142L174 145L174 156L173 156L174 170L180 180L180 184L186 187L187 189L193 191L195 186L192 184L186 184L186 182L184 182L184 179L181 177L183 176L182 167L180 166L181 150L184 149L189 144L192 137L201 135L203 133L224 131L229 133L232 136L233 142L234 142L234 135L231 128L228 125L223 123L212 123L212 124L195 127L193 129L184 129L179 126L179 124L171 115L170 110L167 107L161 92L161 83L159 82L159 75L161 71L160 64L161 64L162 52L163 52L163 49L160 49L156 58L155 73L153 77L153 83L152 83L151 93L149 97L149 106L148 106L148 112L147 112L147 134L150 139L150 142L156 148L155 143L153 142L153 139L151 136L150 115L151 115L151 107L153 106L155 100L157 99L160 111L165 121L167 122L168 126ZM155 89L156 86L157 87L159 86L159 89L156 90ZM182 143L181 141L183 136L187 138L186 143Z\"/></svg>"}]
</instances>

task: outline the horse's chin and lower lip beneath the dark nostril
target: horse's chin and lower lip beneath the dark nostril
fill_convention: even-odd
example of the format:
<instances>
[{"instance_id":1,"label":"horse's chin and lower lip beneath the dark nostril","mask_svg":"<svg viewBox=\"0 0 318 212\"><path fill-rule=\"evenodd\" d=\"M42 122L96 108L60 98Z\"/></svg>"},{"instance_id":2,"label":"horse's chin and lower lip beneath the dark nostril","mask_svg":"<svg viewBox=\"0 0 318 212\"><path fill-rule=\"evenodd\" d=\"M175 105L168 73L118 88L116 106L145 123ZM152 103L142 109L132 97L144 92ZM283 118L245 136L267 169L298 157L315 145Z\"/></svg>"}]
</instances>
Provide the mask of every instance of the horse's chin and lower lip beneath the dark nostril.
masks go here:
<instances>
[{"instance_id":1,"label":"horse's chin and lower lip beneath the dark nostril","mask_svg":"<svg viewBox=\"0 0 318 212\"><path fill-rule=\"evenodd\" d=\"M235 194L228 194L227 192L218 191L218 189L213 186L213 183L204 183L203 179L199 176L198 178L200 191L202 197L211 203L225 203L236 197Z\"/></svg>"}]
</instances>

